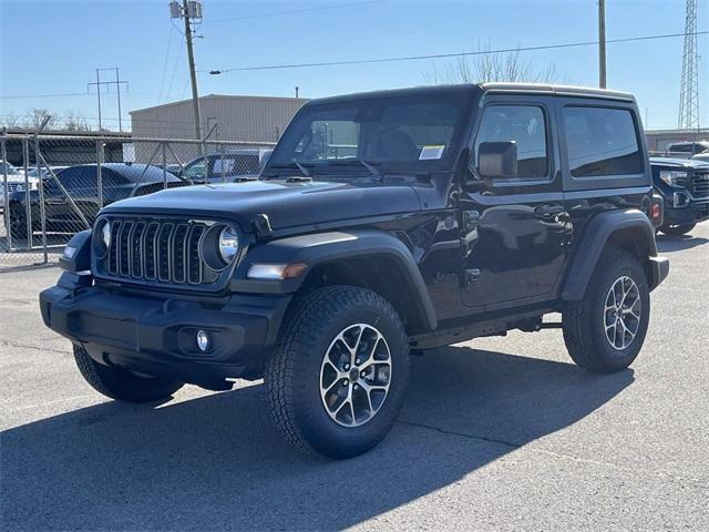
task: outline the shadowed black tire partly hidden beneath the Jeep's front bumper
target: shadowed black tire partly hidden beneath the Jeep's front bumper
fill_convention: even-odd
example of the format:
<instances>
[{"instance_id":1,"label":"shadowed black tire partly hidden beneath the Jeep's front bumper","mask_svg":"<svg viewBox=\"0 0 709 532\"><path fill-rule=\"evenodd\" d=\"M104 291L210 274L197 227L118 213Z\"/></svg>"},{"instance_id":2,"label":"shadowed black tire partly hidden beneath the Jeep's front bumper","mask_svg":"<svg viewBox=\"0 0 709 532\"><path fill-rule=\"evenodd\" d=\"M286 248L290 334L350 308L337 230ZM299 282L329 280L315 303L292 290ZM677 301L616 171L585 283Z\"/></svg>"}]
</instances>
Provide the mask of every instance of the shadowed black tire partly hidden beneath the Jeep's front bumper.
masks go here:
<instances>
[{"instance_id":1,"label":"shadowed black tire partly hidden beneath the Jeep's front bumper","mask_svg":"<svg viewBox=\"0 0 709 532\"><path fill-rule=\"evenodd\" d=\"M161 377L141 377L127 369L104 366L74 346L74 360L82 377L91 387L111 399L127 402L154 402L172 397L184 383Z\"/></svg>"}]
</instances>

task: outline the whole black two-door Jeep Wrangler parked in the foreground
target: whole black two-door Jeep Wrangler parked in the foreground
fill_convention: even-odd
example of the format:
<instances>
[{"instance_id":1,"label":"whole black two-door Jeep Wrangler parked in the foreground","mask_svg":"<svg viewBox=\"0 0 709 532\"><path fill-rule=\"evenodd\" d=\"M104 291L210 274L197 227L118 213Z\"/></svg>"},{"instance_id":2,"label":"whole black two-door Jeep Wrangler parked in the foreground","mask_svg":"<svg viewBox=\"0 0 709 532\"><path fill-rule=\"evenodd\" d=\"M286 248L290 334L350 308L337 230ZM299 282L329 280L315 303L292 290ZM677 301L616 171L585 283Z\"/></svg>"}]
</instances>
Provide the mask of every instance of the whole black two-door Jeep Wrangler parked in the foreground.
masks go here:
<instances>
[{"instance_id":1,"label":"whole black two-door Jeep Wrangler parked in the foreground","mask_svg":"<svg viewBox=\"0 0 709 532\"><path fill-rule=\"evenodd\" d=\"M651 194L628 94L311 101L259 181L105 207L66 247L42 317L109 397L263 377L289 441L352 457L394 423L410 350L557 326L578 366L629 366L669 269Z\"/></svg>"}]
</instances>

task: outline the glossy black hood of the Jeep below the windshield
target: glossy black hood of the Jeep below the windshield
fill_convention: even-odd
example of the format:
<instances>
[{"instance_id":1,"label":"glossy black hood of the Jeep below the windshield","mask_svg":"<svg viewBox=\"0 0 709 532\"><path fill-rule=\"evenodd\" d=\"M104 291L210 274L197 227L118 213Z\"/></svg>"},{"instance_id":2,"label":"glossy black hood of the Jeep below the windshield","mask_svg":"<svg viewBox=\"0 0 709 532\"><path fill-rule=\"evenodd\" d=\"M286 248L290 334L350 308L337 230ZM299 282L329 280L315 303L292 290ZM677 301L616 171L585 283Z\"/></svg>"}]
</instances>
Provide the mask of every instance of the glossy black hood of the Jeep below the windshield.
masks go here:
<instances>
[{"instance_id":1,"label":"glossy black hood of the Jeep below the windshield","mask_svg":"<svg viewBox=\"0 0 709 532\"><path fill-rule=\"evenodd\" d=\"M410 213L420 205L409 185L256 181L160 191L116 202L103 212L235 219L249 231L257 214L266 214L274 229L282 229Z\"/></svg>"}]
</instances>

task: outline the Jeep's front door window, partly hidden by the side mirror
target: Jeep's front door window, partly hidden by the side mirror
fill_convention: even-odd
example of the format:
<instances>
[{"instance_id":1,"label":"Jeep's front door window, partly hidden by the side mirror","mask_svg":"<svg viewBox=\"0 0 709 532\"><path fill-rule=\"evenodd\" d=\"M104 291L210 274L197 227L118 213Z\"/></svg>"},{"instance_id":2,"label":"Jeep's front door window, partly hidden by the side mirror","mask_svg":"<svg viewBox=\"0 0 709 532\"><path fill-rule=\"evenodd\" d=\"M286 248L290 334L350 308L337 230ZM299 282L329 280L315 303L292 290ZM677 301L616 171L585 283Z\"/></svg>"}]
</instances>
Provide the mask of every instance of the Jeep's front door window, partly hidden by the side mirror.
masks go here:
<instances>
[{"instance_id":1,"label":"Jeep's front door window, partly hidden by the side mirror","mask_svg":"<svg viewBox=\"0 0 709 532\"><path fill-rule=\"evenodd\" d=\"M515 142L517 174L523 178L548 175L546 119L536 105L490 105L485 108L475 154L483 142Z\"/></svg>"}]
</instances>

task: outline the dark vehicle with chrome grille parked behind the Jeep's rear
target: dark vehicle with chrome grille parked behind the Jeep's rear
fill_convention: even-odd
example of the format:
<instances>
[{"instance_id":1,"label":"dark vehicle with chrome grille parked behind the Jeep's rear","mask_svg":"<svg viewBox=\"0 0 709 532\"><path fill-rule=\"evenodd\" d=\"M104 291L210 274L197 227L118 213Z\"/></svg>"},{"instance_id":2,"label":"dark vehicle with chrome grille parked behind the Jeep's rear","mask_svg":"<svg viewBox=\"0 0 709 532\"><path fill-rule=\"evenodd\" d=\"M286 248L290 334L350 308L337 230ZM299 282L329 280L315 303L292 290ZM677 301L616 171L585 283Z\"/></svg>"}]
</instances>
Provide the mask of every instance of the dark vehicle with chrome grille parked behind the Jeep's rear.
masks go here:
<instances>
[{"instance_id":1,"label":"dark vehicle with chrome grille parked behind the Jeep's rear","mask_svg":"<svg viewBox=\"0 0 709 532\"><path fill-rule=\"evenodd\" d=\"M709 219L709 163L693 158L650 157L653 184L662 196L666 235L684 235Z\"/></svg>"}]
</instances>

